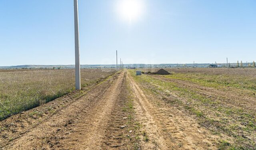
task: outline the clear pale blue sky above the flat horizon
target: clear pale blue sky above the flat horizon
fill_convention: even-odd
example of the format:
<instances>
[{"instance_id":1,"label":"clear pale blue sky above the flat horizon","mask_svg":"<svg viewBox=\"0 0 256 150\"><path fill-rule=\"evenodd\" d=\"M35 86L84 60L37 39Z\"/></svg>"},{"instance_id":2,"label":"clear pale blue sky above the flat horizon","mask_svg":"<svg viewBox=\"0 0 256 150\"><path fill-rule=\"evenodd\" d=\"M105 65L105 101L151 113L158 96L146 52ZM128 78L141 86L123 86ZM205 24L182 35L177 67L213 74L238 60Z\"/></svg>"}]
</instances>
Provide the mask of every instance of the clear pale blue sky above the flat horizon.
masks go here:
<instances>
[{"instance_id":1,"label":"clear pale blue sky above the flat horizon","mask_svg":"<svg viewBox=\"0 0 256 150\"><path fill-rule=\"evenodd\" d=\"M78 0L81 64L256 60L256 0ZM0 0L0 66L74 64L73 0Z\"/></svg>"}]
</instances>

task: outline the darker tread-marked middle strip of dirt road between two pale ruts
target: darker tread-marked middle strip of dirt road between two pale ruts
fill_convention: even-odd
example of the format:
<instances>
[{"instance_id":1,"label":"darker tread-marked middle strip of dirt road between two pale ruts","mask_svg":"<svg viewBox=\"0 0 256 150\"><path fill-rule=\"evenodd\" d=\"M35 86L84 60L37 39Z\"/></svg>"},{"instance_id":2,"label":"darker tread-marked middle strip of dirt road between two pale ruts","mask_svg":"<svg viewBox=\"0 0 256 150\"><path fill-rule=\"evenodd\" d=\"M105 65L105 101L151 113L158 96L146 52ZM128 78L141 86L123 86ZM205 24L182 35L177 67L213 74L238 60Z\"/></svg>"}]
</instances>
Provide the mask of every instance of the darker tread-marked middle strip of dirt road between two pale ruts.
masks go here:
<instances>
[{"instance_id":1,"label":"darker tread-marked middle strip of dirt road between two pale ruts","mask_svg":"<svg viewBox=\"0 0 256 150\"><path fill-rule=\"evenodd\" d=\"M134 115L130 102L128 102L129 92L127 92L126 77L125 73L121 92L114 103L114 109L103 138L103 150L137 150L140 147L139 141L135 139ZM122 127L124 128L122 129Z\"/></svg>"}]
</instances>

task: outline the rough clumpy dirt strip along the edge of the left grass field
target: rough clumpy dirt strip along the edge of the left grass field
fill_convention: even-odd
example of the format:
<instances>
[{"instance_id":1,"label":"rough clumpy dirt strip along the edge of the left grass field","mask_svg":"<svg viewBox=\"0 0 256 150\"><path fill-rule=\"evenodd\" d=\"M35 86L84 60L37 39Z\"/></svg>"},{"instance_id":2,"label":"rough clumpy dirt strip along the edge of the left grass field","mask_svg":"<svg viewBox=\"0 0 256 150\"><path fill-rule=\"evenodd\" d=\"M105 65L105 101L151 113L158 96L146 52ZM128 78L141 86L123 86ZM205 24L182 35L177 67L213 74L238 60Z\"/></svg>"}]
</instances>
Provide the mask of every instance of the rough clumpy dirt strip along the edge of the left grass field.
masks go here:
<instances>
[{"instance_id":1,"label":"rough clumpy dirt strip along the edge of the left grass field","mask_svg":"<svg viewBox=\"0 0 256 150\"><path fill-rule=\"evenodd\" d=\"M56 113L70 106L90 90L97 88L100 85L98 83L104 82L104 80L105 79L101 79L92 83L88 85L88 87L83 88L80 92L73 91L42 106L13 115L3 121L0 121L0 149L8 144L10 140L19 138L26 132L29 132L41 123L44 123L44 121L50 119ZM110 82L110 80L106 82ZM33 115L34 113L36 113L36 115Z\"/></svg>"}]
</instances>

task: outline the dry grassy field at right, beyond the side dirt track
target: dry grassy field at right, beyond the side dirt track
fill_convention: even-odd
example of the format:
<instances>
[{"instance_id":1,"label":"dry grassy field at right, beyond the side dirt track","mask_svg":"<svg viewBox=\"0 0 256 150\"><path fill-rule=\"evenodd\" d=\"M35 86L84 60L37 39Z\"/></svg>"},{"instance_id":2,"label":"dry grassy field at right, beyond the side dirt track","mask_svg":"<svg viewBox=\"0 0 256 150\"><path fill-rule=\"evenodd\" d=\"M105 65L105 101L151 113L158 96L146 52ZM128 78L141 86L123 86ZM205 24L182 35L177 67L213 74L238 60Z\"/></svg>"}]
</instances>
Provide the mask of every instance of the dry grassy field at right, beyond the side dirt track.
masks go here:
<instances>
[{"instance_id":1,"label":"dry grassy field at right, beyond the side dirt track","mask_svg":"<svg viewBox=\"0 0 256 150\"><path fill-rule=\"evenodd\" d=\"M145 69L155 71L156 69ZM204 86L230 86L256 92L255 68L166 68L167 78L189 80Z\"/></svg>"}]
</instances>

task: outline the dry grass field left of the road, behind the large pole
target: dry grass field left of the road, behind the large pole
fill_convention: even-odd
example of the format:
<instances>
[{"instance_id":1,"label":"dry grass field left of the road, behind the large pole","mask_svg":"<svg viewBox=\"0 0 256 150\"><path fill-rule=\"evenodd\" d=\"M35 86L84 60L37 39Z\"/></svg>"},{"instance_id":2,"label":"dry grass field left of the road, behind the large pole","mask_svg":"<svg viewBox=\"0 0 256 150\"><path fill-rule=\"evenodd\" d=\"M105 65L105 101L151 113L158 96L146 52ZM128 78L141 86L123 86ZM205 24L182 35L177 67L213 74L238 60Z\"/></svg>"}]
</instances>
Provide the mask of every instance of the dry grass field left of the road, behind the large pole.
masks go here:
<instances>
[{"instance_id":1,"label":"dry grass field left of the road, behind the large pole","mask_svg":"<svg viewBox=\"0 0 256 150\"><path fill-rule=\"evenodd\" d=\"M82 87L113 72L82 69ZM0 70L0 119L68 94L74 90L74 83L74 70Z\"/></svg>"}]
</instances>

